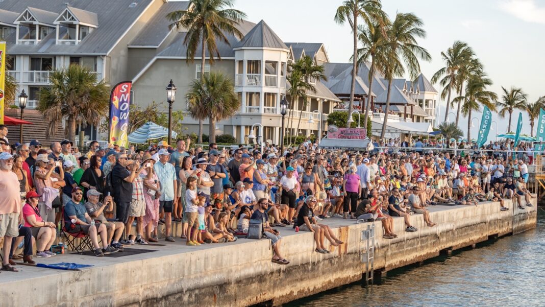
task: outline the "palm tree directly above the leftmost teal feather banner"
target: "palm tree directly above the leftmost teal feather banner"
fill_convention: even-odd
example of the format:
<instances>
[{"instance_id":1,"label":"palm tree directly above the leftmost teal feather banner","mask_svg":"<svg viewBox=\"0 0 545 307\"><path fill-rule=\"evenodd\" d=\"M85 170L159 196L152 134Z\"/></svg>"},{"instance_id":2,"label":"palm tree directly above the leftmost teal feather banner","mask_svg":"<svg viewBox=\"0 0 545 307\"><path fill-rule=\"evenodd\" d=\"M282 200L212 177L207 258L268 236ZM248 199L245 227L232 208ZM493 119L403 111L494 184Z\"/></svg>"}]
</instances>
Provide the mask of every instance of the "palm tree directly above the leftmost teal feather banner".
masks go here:
<instances>
[{"instance_id":1,"label":"palm tree directly above the leftmost teal feather banner","mask_svg":"<svg viewBox=\"0 0 545 307\"><path fill-rule=\"evenodd\" d=\"M492 85L484 73L475 74L469 77L465 86L465 95L455 98L455 101L463 101L462 113L468 117L468 141L471 140L471 114L473 111L479 112L481 105L487 106L490 111L495 111L495 102L498 95L492 91L487 91L487 87Z\"/></svg>"}]
</instances>

